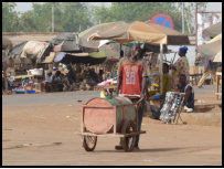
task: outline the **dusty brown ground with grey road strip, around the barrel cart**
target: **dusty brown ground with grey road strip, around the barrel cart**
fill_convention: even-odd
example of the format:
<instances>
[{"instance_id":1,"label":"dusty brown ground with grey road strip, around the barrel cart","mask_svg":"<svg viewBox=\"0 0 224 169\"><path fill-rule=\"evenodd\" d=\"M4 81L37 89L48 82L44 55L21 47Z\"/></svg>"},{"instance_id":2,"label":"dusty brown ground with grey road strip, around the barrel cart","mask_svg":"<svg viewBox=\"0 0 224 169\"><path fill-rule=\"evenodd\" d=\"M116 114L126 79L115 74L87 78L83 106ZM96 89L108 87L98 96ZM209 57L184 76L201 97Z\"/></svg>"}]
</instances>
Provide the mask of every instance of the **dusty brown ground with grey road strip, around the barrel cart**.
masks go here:
<instances>
[{"instance_id":1,"label":"dusty brown ground with grey road strip, around the barrel cart","mask_svg":"<svg viewBox=\"0 0 224 169\"><path fill-rule=\"evenodd\" d=\"M2 165L222 165L222 126L166 125L148 117L142 122L147 134L141 135L139 151L117 151L118 138L99 137L95 151L86 152L74 133L79 131L81 105L97 94L2 96Z\"/></svg>"}]
</instances>

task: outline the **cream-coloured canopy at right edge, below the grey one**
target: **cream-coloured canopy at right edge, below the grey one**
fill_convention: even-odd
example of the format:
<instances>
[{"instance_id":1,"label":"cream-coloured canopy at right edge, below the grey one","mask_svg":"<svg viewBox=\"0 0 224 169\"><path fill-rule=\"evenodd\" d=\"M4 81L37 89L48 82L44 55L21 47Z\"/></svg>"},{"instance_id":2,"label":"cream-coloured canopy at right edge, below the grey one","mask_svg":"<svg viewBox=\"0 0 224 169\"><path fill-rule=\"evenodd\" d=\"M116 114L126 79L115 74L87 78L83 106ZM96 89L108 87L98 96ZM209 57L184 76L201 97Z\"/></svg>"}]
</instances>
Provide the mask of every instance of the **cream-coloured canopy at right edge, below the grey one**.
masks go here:
<instances>
[{"instance_id":1,"label":"cream-coloured canopy at right edge, below the grey one","mask_svg":"<svg viewBox=\"0 0 224 169\"><path fill-rule=\"evenodd\" d=\"M202 56L210 57L211 60L222 50L222 33L216 35L211 41L206 42L205 44L198 46L198 52ZM222 52L221 52L222 55Z\"/></svg>"}]
</instances>

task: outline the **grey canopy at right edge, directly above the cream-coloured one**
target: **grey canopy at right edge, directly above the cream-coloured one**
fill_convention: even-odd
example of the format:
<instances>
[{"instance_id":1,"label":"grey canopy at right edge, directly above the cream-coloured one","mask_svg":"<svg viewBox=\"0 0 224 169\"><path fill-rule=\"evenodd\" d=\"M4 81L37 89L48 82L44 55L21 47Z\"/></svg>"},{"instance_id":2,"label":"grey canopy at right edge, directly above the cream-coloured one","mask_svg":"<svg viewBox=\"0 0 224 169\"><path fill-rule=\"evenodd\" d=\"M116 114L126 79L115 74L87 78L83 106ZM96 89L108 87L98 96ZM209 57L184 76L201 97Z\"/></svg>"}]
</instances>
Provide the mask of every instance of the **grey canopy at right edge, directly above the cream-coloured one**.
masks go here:
<instances>
[{"instance_id":1,"label":"grey canopy at right edge, directly above the cream-coloured one","mask_svg":"<svg viewBox=\"0 0 224 169\"><path fill-rule=\"evenodd\" d=\"M222 22L213 24L202 31L203 38L214 38L215 35L222 33Z\"/></svg>"}]
</instances>

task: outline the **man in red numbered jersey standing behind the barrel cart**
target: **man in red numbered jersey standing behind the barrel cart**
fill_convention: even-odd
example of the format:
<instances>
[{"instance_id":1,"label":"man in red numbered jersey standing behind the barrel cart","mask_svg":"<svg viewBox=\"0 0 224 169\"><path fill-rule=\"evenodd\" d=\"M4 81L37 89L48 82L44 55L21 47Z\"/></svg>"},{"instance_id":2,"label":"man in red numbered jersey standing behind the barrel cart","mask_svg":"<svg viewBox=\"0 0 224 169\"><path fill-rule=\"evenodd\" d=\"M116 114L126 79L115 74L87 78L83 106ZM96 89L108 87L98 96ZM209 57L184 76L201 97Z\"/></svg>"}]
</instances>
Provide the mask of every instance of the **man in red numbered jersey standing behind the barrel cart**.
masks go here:
<instances>
[{"instance_id":1,"label":"man in red numbered jersey standing behind the barrel cart","mask_svg":"<svg viewBox=\"0 0 224 169\"><path fill-rule=\"evenodd\" d=\"M143 51L140 44L131 46L131 55L122 57L118 64L118 82L117 95L120 94L131 99L131 102L140 103L138 108L138 130L141 129L141 122L143 117L143 99L146 97L147 77L149 70L146 62L142 61ZM115 149L122 149L121 140ZM139 135L136 137L134 149L139 149Z\"/></svg>"}]
</instances>

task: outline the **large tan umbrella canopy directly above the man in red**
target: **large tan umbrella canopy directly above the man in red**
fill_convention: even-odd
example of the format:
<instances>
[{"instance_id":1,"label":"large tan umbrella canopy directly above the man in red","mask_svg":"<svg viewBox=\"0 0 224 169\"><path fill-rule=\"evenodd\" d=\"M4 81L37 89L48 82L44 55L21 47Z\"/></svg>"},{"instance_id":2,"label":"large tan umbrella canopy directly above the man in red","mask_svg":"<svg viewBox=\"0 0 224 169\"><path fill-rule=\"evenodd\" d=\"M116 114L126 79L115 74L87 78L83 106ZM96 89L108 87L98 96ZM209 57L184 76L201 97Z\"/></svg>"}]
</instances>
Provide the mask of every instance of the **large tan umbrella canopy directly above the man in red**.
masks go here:
<instances>
[{"instance_id":1,"label":"large tan umbrella canopy directly above the man in red","mask_svg":"<svg viewBox=\"0 0 224 169\"><path fill-rule=\"evenodd\" d=\"M169 28L136 21L110 28L107 31L94 33L88 36L92 40L114 40L120 43L140 41L152 44L183 45L190 44L188 35Z\"/></svg>"}]
</instances>

